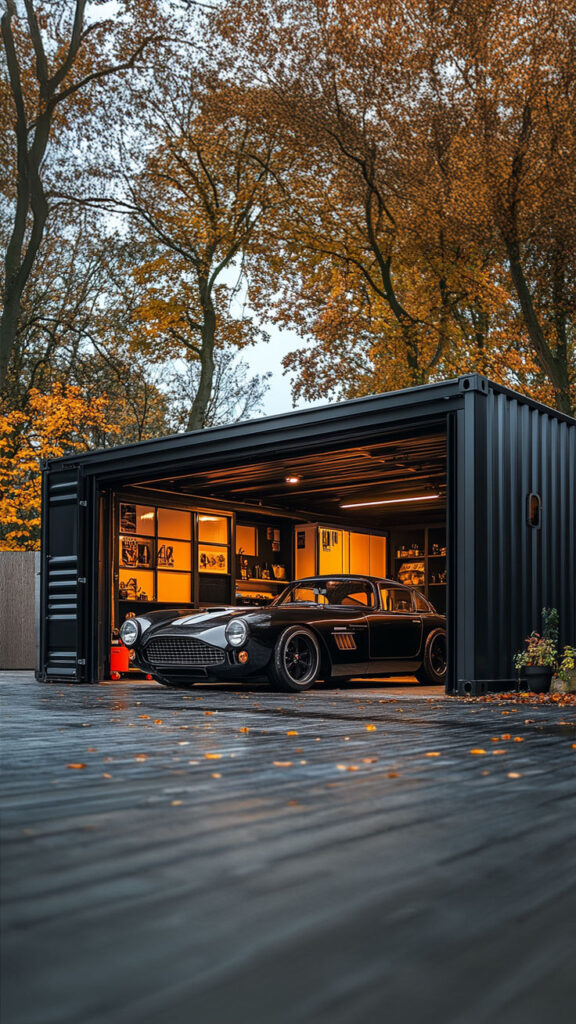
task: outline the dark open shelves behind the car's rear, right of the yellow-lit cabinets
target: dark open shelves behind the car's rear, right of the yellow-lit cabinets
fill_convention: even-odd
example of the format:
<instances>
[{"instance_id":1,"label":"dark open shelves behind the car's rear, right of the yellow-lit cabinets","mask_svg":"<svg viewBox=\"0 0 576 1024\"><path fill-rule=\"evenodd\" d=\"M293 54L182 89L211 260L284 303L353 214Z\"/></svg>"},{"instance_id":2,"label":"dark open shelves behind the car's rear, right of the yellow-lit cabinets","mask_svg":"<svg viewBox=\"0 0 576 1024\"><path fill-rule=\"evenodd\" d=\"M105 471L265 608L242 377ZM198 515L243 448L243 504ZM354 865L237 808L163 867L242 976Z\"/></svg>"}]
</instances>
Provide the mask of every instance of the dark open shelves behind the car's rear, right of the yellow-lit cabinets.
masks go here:
<instances>
[{"instance_id":1,"label":"dark open shelves behind the car's rear, right of the yellow-lit cabinets","mask_svg":"<svg viewBox=\"0 0 576 1024\"><path fill-rule=\"evenodd\" d=\"M416 587L437 611L446 611L444 526L420 526L393 532L390 561L396 580Z\"/></svg>"}]
</instances>

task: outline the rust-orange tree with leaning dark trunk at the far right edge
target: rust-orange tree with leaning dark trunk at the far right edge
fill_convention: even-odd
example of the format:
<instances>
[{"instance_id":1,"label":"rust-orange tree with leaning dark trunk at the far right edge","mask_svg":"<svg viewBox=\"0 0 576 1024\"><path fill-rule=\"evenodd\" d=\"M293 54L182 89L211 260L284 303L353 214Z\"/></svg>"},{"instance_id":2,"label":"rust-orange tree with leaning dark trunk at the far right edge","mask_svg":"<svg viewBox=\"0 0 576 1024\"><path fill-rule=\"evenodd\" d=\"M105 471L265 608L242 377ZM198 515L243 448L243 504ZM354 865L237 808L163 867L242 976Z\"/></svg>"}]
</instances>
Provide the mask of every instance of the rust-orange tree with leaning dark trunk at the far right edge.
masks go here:
<instances>
[{"instance_id":1,"label":"rust-orange tree with leaning dark trunk at the far right edge","mask_svg":"<svg viewBox=\"0 0 576 1024\"><path fill-rule=\"evenodd\" d=\"M576 408L576 3L463 0L448 46L467 161L554 404ZM440 59L440 51L437 60ZM480 173L478 173L480 171Z\"/></svg>"}]
</instances>

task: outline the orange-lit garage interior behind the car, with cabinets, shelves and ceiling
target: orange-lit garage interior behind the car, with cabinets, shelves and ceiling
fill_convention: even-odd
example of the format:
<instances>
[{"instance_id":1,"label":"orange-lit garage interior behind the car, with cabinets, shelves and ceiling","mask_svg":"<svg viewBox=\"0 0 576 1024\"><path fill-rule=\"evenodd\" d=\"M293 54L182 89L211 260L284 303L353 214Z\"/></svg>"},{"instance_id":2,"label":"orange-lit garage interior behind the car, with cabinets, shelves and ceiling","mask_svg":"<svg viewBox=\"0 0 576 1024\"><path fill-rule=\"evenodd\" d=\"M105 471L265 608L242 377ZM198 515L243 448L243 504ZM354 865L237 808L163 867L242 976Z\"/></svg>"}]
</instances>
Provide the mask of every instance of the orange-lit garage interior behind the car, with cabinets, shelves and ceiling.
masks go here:
<instances>
[{"instance_id":1,"label":"orange-lit garage interior behind the car, with cabinets, shelves and ceiling","mask_svg":"<svg viewBox=\"0 0 576 1024\"><path fill-rule=\"evenodd\" d=\"M115 647L128 616L265 605L317 573L392 578L445 612L446 431L381 438L112 488L111 667L125 668Z\"/></svg>"}]
</instances>

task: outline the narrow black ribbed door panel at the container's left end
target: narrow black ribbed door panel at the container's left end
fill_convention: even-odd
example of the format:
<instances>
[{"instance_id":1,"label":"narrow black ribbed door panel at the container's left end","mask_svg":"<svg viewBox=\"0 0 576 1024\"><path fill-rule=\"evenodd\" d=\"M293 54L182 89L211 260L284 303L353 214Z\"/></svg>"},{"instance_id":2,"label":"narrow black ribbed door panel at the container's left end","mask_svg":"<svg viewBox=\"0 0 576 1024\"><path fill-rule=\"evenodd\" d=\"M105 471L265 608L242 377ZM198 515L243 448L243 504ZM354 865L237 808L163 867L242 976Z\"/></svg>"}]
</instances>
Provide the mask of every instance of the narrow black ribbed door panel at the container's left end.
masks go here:
<instances>
[{"instance_id":1,"label":"narrow black ribbed door panel at the container's left end","mask_svg":"<svg viewBox=\"0 0 576 1024\"><path fill-rule=\"evenodd\" d=\"M43 477L40 678L81 682L86 676L83 628L87 581L84 480L78 468Z\"/></svg>"}]
</instances>

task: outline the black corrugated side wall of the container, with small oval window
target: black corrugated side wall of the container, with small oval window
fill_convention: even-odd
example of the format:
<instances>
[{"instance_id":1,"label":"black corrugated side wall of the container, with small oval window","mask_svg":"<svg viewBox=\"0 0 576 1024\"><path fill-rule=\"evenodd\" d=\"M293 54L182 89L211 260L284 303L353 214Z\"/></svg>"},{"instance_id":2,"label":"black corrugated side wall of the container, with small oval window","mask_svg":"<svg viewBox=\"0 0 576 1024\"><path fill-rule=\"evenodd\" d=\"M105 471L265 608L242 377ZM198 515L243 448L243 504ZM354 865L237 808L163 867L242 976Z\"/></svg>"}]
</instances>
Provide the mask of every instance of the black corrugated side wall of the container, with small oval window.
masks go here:
<instances>
[{"instance_id":1,"label":"black corrugated side wall of the container, with small oval window","mask_svg":"<svg viewBox=\"0 0 576 1024\"><path fill-rule=\"evenodd\" d=\"M457 682L478 691L513 680L542 607L559 609L562 643L576 637L576 425L492 388L467 395L458 420Z\"/></svg>"}]
</instances>

